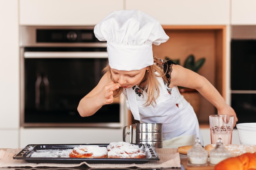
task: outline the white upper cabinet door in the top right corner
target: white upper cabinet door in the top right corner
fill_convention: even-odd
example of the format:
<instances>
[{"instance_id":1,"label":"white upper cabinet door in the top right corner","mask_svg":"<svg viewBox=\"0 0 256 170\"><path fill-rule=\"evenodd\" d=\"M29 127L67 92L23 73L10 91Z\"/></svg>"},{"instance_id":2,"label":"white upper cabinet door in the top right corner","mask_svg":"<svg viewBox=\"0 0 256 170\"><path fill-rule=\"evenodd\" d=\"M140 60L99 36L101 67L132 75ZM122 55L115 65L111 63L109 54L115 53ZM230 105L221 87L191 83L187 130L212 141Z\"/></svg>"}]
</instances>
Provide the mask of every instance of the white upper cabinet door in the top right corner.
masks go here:
<instances>
[{"instance_id":1,"label":"white upper cabinet door in the top right corner","mask_svg":"<svg viewBox=\"0 0 256 170\"><path fill-rule=\"evenodd\" d=\"M256 0L232 0L231 25L256 24Z\"/></svg>"}]
</instances>

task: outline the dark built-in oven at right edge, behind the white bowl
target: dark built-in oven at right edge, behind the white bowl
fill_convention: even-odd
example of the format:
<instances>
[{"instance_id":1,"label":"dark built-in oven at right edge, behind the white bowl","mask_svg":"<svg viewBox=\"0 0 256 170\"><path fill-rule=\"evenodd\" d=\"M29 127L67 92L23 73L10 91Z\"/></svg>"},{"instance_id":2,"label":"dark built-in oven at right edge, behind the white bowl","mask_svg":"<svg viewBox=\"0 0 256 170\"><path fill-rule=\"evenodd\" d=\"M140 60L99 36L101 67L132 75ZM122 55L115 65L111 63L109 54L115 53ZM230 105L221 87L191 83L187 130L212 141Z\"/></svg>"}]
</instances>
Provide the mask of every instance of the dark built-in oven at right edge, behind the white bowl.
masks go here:
<instances>
[{"instance_id":1,"label":"dark built-in oven at right edge, behind the white bowl","mask_svg":"<svg viewBox=\"0 0 256 170\"><path fill-rule=\"evenodd\" d=\"M256 26L231 28L231 106L238 123L256 122Z\"/></svg>"}]
</instances>

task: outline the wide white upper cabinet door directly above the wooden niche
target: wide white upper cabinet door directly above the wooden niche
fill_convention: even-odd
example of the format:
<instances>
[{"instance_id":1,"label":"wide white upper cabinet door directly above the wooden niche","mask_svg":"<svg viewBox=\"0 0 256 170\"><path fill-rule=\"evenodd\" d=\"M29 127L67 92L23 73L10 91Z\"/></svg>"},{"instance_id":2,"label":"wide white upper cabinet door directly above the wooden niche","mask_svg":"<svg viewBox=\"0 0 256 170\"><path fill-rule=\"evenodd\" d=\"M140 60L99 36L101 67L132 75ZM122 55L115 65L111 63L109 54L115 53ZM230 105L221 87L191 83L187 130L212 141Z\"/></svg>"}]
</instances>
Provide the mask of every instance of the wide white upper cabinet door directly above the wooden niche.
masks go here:
<instances>
[{"instance_id":1,"label":"wide white upper cabinet door directly above the wooden niche","mask_svg":"<svg viewBox=\"0 0 256 170\"><path fill-rule=\"evenodd\" d=\"M126 9L138 9L163 25L227 25L229 0L126 0Z\"/></svg>"}]
</instances>

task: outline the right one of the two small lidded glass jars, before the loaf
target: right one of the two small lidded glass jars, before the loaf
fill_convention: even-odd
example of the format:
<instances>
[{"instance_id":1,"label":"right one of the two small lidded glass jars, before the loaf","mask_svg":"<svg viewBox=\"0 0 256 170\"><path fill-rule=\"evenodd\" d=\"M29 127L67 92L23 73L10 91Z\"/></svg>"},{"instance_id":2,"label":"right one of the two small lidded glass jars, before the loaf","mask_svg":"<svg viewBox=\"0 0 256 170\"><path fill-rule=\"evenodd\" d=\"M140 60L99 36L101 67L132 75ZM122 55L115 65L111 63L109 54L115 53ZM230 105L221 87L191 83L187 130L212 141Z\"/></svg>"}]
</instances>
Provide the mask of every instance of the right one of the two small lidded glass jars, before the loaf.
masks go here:
<instances>
[{"instance_id":1,"label":"right one of the two small lidded glass jars, before the loaf","mask_svg":"<svg viewBox=\"0 0 256 170\"><path fill-rule=\"evenodd\" d=\"M230 152L222 144L221 138L218 138L215 148L210 151L210 164L216 165L220 161L230 157Z\"/></svg>"}]
</instances>

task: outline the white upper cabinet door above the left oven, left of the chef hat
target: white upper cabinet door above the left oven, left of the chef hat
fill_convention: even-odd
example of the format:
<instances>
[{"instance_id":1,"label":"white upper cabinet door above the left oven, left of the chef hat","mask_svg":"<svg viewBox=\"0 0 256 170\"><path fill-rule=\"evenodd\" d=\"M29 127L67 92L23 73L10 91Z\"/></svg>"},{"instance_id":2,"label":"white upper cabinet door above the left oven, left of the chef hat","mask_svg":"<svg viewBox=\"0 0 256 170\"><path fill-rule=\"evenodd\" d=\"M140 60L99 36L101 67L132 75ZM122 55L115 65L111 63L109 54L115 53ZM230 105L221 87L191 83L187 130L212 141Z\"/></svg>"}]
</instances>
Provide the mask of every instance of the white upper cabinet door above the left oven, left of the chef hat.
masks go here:
<instances>
[{"instance_id":1,"label":"white upper cabinet door above the left oven, left of the chef hat","mask_svg":"<svg viewBox=\"0 0 256 170\"><path fill-rule=\"evenodd\" d=\"M123 0L20 0L20 25L95 25Z\"/></svg>"}]
</instances>

